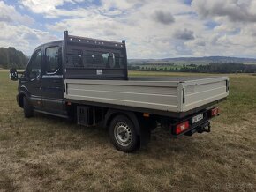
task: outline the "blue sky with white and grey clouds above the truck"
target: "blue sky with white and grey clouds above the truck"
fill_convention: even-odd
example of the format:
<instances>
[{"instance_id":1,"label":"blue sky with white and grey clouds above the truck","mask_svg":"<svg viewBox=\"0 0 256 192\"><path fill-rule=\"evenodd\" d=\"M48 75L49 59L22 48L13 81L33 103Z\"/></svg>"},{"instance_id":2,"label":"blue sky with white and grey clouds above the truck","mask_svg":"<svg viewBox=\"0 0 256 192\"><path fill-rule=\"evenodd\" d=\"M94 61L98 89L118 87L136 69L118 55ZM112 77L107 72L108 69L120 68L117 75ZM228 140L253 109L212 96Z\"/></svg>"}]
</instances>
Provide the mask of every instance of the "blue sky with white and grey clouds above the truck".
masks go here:
<instances>
[{"instance_id":1,"label":"blue sky with white and grey clouds above the truck","mask_svg":"<svg viewBox=\"0 0 256 192\"><path fill-rule=\"evenodd\" d=\"M127 42L129 58L256 57L256 0L0 0L0 47L31 55L74 35Z\"/></svg>"}]
</instances>

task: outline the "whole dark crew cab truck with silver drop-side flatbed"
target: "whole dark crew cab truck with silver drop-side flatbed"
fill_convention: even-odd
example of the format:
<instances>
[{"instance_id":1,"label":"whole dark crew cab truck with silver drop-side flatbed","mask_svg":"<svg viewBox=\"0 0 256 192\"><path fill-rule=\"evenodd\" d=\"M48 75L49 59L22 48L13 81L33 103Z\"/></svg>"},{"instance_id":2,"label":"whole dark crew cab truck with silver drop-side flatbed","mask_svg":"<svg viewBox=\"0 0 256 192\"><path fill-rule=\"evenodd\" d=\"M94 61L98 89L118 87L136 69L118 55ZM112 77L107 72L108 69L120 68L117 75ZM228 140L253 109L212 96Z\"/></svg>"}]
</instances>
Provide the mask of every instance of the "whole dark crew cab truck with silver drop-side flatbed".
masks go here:
<instances>
[{"instance_id":1,"label":"whole dark crew cab truck with silver drop-side flatbed","mask_svg":"<svg viewBox=\"0 0 256 192\"><path fill-rule=\"evenodd\" d=\"M209 132L216 103L229 94L227 77L128 78L125 41L72 36L34 50L19 80L17 101L25 117L34 112L101 124L120 151L150 140L158 124L171 136Z\"/></svg>"}]
</instances>

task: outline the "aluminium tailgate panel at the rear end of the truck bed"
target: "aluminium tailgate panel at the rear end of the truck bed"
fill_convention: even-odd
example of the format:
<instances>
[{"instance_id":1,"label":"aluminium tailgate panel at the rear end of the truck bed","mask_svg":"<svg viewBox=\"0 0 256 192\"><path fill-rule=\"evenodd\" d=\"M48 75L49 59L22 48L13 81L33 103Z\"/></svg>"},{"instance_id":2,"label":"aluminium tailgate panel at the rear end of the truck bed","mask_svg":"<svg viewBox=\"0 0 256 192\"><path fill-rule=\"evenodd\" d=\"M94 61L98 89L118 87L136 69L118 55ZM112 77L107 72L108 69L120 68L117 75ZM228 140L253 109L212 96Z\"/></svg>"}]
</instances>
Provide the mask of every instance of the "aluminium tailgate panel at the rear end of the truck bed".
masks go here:
<instances>
[{"instance_id":1,"label":"aluminium tailgate panel at the rear end of the truck bed","mask_svg":"<svg viewBox=\"0 0 256 192\"><path fill-rule=\"evenodd\" d=\"M182 84L184 87L182 112L222 100L229 95L229 78L227 77L191 80Z\"/></svg>"}]
</instances>

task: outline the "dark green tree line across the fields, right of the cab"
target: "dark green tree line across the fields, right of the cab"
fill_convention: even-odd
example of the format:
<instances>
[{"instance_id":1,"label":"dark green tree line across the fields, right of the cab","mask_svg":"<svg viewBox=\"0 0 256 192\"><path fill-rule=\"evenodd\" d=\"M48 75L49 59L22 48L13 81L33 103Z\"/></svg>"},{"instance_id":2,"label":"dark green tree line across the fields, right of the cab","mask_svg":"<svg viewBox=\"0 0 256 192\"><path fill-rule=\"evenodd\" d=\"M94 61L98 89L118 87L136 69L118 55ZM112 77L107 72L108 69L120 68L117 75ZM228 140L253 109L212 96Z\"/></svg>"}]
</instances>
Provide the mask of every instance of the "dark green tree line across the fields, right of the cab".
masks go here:
<instances>
[{"instance_id":1,"label":"dark green tree line across the fields, right of the cab","mask_svg":"<svg viewBox=\"0 0 256 192\"><path fill-rule=\"evenodd\" d=\"M194 73L256 73L256 65L243 63L209 63L206 65L189 64L170 68L143 65L129 65L128 70L194 72Z\"/></svg>"}]
</instances>

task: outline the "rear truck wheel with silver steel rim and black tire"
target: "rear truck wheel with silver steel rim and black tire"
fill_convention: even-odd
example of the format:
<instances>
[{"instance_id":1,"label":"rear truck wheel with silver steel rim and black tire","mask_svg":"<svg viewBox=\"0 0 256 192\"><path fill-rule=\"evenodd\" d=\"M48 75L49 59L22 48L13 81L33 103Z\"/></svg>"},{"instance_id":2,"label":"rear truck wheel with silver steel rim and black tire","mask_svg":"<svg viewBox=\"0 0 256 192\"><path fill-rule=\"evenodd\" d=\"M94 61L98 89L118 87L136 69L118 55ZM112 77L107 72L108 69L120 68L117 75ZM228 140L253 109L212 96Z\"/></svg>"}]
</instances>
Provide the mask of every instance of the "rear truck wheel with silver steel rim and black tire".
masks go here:
<instances>
[{"instance_id":1,"label":"rear truck wheel with silver steel rim and black tire","mask_svg":"<svg viewBox=\"0 0 256 192\"><path fill-rule=\"evenodd\" d=\"M109 126L111 143L119 151L132 152L139 148L139 136L134 124L124 115L115 117Z\"/></svg>"}]
</instances>

